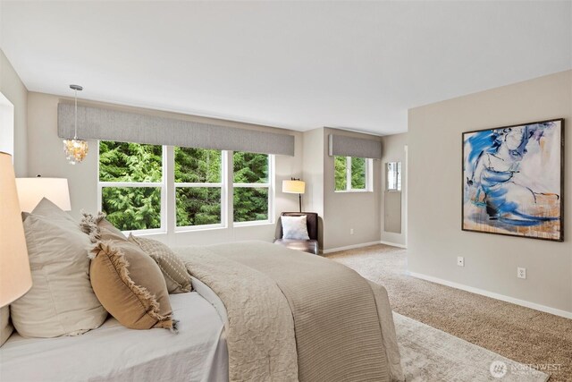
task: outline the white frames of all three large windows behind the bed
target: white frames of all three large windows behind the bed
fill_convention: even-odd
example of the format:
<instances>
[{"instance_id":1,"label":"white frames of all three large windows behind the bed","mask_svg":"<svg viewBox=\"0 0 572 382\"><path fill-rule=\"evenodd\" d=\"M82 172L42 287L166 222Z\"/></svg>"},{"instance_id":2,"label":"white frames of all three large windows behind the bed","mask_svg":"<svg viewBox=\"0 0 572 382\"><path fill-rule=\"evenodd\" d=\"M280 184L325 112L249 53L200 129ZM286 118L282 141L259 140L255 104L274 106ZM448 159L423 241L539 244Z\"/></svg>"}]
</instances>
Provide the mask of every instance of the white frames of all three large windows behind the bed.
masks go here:
<instances>
[{"instance_id":1,"label":"white frames of all three large windows behind the bed","mask_svg":"<svg viewBox=\"0 0 572 382\"><path fill-rule=\"evenodd\" d=\"M234 162L232 150L221 150L222 176L221 183L176 183L174 181L175 146L161 146L161 182L102 182L99 180L99 142L97 140L97 209L103 210L103 189L105 187L149 187L161 189L161 226L144 230L127 230L122 233L137 235L176 234L197 231L225 229L229 227L245 227L253 225L273 225L275 205L275 155L268 156L268 182L267 183L234 183ZM133 142L137 143L137 142ZM219 187L221 188L221 223L214 225L185 225L177 226L176 190L178 187ZM268 189L268 218L249 222L234 222L234 188L266 188Z\"/></svg>"}]
</instances>

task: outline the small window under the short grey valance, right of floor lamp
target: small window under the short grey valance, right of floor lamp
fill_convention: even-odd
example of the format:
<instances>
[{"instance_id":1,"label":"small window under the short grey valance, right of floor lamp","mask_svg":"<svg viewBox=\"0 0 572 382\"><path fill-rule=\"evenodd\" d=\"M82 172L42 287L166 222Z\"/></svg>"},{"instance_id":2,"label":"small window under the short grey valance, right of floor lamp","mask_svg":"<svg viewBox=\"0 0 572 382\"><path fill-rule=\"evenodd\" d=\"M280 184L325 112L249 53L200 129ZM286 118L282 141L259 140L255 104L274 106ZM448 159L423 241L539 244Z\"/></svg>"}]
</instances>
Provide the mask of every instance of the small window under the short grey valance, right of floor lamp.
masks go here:
<instances>
[{"instance_id":1,"label":"small window under the short grey valance, right of floor lamp","mask_svg":"<svg viewBox=\"0 0 572 382\"><path fill-rule=\"evenodd\" d=\"M333 157L335 191L371 191L371 159Z\"/></svg>"}]
</instances>

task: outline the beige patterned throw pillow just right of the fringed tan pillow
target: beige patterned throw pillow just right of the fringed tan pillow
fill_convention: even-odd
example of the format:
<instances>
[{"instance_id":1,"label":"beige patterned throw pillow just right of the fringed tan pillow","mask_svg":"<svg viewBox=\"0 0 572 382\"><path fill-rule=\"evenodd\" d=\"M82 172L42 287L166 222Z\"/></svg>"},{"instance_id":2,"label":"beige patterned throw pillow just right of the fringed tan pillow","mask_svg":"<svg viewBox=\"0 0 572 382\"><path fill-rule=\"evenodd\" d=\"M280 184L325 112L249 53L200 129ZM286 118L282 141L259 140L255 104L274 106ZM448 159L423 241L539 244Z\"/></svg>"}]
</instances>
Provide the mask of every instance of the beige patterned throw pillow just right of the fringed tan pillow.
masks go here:
<instances>
[{"instance_id":1,"label":"beige patterned throw pillow just right of the fringed tan pillow","mask_svg":"<svg viewBox=\"0 0 572 382\"><path fill-rule=\"evenodd\" d=\"M139 245L147 255L154 259L163 272L164 281L167 283L169 293L186 293L190 292L190 275L187 272L185 263L179 259L171 248L163 242L144 237L136 237L129 235L129 241Z\"/></svg>"}]
</instances>

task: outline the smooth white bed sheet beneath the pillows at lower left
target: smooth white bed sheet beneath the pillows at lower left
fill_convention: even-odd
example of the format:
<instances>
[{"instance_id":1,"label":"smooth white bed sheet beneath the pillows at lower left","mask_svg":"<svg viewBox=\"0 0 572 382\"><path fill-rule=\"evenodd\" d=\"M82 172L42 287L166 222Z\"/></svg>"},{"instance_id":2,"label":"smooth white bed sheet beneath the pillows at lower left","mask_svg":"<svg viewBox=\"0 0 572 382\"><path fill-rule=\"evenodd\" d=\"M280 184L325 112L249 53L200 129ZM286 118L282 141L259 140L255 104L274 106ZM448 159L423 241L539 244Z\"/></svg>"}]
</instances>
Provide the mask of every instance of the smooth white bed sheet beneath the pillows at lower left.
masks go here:
<instances>
[{"instance_id":1,"label":"smooth white bed sheet beneath the pillows at lower left","mask_svg":"<svg viewBox=\"0 0 572 382\"><path fill-rule=\"evenodd\" d=\"M198 293L172 294L179 334L114 318L84 335L22 338L0 348L0 381L228 381L224 324Z\"/></svg>"}]
</instances>

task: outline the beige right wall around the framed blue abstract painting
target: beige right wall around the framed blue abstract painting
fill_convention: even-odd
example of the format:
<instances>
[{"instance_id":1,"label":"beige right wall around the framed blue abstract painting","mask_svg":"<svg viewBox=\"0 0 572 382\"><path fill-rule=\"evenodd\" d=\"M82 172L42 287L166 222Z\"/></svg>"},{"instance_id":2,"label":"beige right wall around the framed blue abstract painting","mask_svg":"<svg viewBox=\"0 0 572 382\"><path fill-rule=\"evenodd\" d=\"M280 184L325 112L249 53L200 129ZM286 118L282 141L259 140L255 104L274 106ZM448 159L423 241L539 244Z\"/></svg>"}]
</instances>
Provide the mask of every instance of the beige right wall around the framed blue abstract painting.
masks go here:
<instances>
[{"instance_id":1,"label":"beige right wall around the framed blue abstract painting","mask_svg":"<svg viewBox=\"0 0 572 382\"><path fill-rule=\"evenodd\" d=\"M572 126L572 71L416 107L408 115L409 271L572 312L572 134L565 242L463 232L461 133L551 118ZM458 256L465 267L458 267ZM526 267L527 278L517 278Z\"/></svg>"}]
</instances>

